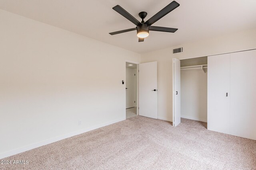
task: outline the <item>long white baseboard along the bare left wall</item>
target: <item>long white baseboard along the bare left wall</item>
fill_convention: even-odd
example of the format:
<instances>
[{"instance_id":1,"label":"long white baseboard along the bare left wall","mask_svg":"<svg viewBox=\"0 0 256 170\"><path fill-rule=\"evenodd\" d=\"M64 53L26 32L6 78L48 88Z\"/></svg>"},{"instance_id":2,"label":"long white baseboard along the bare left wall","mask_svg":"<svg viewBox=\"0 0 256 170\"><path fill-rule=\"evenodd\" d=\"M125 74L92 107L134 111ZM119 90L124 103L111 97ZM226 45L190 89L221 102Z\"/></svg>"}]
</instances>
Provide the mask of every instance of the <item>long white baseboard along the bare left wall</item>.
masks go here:
<instances>
[{"instance_id":1,"label":"long white baseboard along the bare left wall","mask_svg":"<svg viewBox=\"0 0 256 170\"><path fill-rule=\"evenodd\" d=\"M48 139L46 141L42 141L42 142L39 142L39 143L35 143L35 144L32 144L32 145L29 145L29 146L26 146L26 147L22 147L22 148L19 148L19 149L15 149L15 150L11 150L11 151L8 151L8 152L4 152L4 153L1 153L0 154L0 159L2 158L6 158L8 156L12 156L12 155L15 155L15 154L18 154L18 153L21 153L21 152L25 152L25 151L28 151L28 150L31 150L31 149L35 149L35 148L38 148L38 147L42 147L44 145L48 145L50 143L54 143L54 142L57 142L57 141L60 141L62 139L66 139L66 138L69 138L69 137L72 137L72 136L75 136L75 135L79 135L81 133L85 133L85 132L88 132L88 131L92 131L94 129L98 129L100 127L104 127L104 126L107 126L107 125L111 125L113 123L117 123L119 121L123 121L125 120L126 118L122 118L122 119L116 119L114 121L109 121L109 122L106 122L106 123L102 123L100 125L96 125L96 126L92 126L92 127L88 127L86 129L81 129L79 131L75 131L75 132L72 132L72 133L68 133L66 135L62 135L62 136L59 136L59 137L55 137L55 138L52 138L52 139Z\"/></svg>"}]
</instances>

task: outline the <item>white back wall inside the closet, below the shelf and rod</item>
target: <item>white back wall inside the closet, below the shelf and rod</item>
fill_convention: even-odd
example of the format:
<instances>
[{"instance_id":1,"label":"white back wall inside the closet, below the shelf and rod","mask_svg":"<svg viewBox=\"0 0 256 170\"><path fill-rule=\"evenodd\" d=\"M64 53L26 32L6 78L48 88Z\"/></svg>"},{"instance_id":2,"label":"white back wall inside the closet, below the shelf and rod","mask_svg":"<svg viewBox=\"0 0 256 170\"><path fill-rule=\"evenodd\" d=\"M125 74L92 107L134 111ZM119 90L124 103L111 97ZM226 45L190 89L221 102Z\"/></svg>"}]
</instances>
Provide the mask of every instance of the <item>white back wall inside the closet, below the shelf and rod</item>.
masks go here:
<instances>
[{"instance_id":1,"label":"white back wall inside the closet, below the shelf and rod","mask_svg":"<svg viewBox=\"0 0 256 170\"><path fill-rule=\"evenodd\" d=\"M181 117L207 122L207 69L181 70Z\"/></svg>"}]
</instances>

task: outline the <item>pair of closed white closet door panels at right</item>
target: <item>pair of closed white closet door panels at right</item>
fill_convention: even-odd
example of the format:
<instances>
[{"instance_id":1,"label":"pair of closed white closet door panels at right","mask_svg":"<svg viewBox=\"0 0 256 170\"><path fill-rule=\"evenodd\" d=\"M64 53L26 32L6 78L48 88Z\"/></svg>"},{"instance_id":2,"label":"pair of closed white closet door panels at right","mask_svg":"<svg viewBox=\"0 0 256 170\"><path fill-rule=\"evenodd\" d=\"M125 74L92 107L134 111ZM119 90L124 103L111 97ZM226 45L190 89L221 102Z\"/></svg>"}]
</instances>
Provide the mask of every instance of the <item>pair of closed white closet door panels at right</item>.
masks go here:
<instances>
[{"instance_id":1,"label":"pair of closed white closet door panels at right","mask_svg":"<svg viewBox=\"0 0 256 170\"><path fill-rule=\"evenodd\" d=\"M208 57L208 129L256 140L256 50Z\"/></svg>"}]
</instances>

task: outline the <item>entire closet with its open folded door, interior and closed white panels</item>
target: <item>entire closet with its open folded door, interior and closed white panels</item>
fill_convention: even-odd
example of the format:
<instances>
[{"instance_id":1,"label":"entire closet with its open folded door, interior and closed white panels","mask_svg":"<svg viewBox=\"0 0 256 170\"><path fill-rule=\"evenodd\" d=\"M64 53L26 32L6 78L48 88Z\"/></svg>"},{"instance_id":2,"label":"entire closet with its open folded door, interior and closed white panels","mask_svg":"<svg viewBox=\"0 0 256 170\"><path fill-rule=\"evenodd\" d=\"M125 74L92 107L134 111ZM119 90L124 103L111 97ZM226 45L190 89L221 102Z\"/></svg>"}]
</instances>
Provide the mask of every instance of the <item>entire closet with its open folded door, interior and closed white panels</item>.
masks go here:
<instances>
[{"instance_id":1,"label":"entire closet with its open folded door, interior and closed white panels","mask_svg":"<svg viewBox=\"0 0 256 170\"><path fill-rule=\"evenodd\" d=\"M180 117L256 140L256 49L173 59L174 126Z\"/></svg>"}]
</instances>

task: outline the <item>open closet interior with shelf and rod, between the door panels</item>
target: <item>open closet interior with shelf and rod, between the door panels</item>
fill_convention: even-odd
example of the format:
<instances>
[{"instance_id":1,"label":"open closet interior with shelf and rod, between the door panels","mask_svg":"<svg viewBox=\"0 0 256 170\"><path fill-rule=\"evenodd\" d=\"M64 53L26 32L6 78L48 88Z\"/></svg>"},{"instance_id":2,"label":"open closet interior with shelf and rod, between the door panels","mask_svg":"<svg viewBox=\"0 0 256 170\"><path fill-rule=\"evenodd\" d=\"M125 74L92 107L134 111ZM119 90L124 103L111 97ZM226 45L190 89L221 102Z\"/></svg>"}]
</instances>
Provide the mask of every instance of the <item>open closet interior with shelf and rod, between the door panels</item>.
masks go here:
<instances>
[{"instance_id":1,"label":"open closet interior with shelf and rod, between the door panels","mask_svg":"<svg viewBox=\"0 0 256 170\"><path fill-rule=\"evenodd\" d=\"M180 60L182 118L207 123L207 57Z\"/></svg>"}]
</instances>

